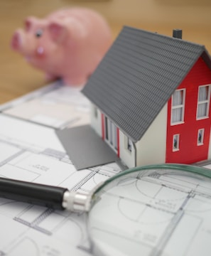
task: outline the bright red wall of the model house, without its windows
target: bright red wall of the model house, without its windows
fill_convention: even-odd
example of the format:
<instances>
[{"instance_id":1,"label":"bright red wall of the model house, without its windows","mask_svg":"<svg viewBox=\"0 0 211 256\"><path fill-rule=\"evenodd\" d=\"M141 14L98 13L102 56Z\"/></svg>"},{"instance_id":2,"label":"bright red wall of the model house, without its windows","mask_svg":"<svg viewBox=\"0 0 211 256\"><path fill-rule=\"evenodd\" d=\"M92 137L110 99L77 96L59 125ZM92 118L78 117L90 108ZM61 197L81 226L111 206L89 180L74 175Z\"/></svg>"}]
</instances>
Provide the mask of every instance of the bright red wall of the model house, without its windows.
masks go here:
<instances>
[{"instance_id":1,"label":"bright red wall of the model house, without its windows","mask_svg":"<svg viewBox=\"0 0 211 256\"><path fill-rule=\"evenodd\" d=\"M166 137L166 163L192 164L207 159L210 142L209 118L196 119L198 87L211 84L211 71L202 58L199 58L178 89L185 88L184 123L171 125L171 99L168 101ZM211 109L211 104L210 104ZM198 146L198 129L205 129L204 144ZM173 151L173 135L180 134L179 150Z\"/></svg>"}]
</instances>

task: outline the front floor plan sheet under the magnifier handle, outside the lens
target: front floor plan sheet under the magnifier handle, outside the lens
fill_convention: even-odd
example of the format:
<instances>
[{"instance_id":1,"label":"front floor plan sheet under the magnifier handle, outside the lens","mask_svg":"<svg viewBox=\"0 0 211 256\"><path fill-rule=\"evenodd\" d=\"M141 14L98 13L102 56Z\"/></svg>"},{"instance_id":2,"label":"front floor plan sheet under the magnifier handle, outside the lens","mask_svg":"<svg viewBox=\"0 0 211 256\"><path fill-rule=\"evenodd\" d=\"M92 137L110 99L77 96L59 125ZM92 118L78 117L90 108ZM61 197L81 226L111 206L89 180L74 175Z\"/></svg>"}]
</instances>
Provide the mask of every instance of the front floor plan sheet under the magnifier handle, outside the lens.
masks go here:
<instances>
[{"instance_id":1,"label":"front floor plan sheet under the magnifier handle, outside the lens","mask_svg":"<svg viewBox=\"0 0 211 256\"><path fill-rule=\"evenodd\" d=\"M76 171L52 128L0 114L0 176L90 191L110 164ZM46 146L45 146L46 145ZM0 255L90 255L85 216L0 198Z\"/></svg>"}]
</instances>

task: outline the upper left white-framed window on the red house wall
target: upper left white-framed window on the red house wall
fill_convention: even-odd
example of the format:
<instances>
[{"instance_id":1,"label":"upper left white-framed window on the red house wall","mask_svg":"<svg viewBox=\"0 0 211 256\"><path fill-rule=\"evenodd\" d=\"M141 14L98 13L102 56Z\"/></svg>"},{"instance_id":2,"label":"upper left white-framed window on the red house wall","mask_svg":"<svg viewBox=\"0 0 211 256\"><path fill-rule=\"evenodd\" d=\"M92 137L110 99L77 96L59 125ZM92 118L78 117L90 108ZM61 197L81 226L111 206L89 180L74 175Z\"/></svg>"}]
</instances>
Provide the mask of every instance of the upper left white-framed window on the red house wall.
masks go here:
<instances>
[{"instance_id":1,"label":"upper left white-framed window on the red house wall","mask_svg":"<svg viewBox=\"0 0 211 256\"><path fill-rule=\"evenodd\" d=\"M184 121L185 90L175 90L172 95L171 124Z\"/></svg>"}]
</instances>

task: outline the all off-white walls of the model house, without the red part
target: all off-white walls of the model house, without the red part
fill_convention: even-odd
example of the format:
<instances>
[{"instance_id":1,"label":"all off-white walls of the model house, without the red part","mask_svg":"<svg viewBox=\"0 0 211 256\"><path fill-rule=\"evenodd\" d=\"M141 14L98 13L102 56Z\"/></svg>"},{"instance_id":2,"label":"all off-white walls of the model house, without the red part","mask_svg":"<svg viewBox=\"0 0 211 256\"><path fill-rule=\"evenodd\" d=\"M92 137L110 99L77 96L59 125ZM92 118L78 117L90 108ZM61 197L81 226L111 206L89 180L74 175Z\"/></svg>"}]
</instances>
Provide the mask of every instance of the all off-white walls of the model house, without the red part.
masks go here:
<instances>
[{"instance_id":1,"label":"all off-white walls of the model house, without the red part","mask_svg":"<svg viewBox=\"0 0 211 256\"><path fill-rule=\"evenodd\" d=\"M92 128L102 137L102 113L94 105L91 105L90 121ZM167 104L154 119L144 137L135 145L132 144L131 151L126 149L126 136L119 131L119 157L129 168L147 164L160 164L166 161L166 126L167 126ZM135 146L135 147L134 147ZM135 149L136 148L136 149ZM137 153L136 153L137 152ZM211 154L211 150L210 150Z\"/></svg>"}]
</instances>

